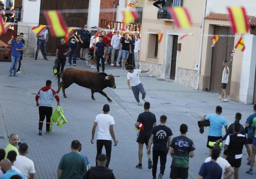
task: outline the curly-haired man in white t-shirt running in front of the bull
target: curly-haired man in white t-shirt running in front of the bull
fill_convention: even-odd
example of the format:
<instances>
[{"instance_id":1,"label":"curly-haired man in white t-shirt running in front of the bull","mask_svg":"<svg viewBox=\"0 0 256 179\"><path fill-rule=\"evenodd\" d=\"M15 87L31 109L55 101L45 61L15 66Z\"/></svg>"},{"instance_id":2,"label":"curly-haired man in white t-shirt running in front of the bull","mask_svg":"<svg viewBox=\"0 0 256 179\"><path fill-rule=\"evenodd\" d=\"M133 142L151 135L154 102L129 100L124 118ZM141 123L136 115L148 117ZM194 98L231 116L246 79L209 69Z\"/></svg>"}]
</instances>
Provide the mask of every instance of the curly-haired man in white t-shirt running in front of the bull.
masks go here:
<instances>
[{"instance_id":1,"label":"curly-haired man in white t-shirt running in front of the bull","mask_svg":"<svg viewBox=\"0 0 256 179\"><path fill-rule=\"evenodd\" d=\"M144 90L143 84L139 81L139 73L146 73L149 69L147 71L133 69L132 65L127 65L125 69L128 71L127 84L129 89L132 89L137 104L142 106L142 103L139 102L139 92L142 94L142 100L144 100L144 102L147 102L147 100L145 99L146 91Z\"/></svg>"}]
</instances>

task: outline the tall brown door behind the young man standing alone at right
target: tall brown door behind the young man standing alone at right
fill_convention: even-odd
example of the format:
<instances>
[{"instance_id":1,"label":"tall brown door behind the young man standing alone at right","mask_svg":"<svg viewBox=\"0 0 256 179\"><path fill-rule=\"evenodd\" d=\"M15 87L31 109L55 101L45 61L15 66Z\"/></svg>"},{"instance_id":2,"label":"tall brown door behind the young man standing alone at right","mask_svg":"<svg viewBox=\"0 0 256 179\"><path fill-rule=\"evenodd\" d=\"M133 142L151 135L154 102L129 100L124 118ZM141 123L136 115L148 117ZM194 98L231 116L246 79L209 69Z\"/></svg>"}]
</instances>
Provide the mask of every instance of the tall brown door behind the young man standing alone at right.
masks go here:
<instances>
[{"instance_id":1,"label":"tall brown door behind the young man standing alone at right","mask_svg":"<svg viewBox=\"0 0 256 179\"><path fill-rule=\"evenodd\" d=\"M214 34L233 35L231 27L215 26ZM210 73L210 91L221 93L221 80L223 66L222 62L229 62L229 82L227 84L227 94L230 92L232 65L230 62L230 52L234 49L234 37L220 37L215 47L212 48L211 73Z\"/></svg>"}]
</instances>

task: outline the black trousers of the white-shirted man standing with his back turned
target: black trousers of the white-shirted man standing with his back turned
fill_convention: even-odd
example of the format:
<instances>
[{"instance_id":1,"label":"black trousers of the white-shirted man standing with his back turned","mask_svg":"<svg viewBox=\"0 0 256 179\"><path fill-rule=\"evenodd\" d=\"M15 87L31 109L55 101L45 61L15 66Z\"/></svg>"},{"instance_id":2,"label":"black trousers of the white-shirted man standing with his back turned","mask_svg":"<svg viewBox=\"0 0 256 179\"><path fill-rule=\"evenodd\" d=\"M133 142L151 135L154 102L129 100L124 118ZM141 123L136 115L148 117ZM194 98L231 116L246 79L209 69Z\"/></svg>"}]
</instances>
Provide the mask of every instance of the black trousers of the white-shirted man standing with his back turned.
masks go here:
<instances>
[{"instance_id":1,"label":"black trousers of the white-shirted man standing with his back turned","mask_svg":"<svg viewBox=\"0 0 256 179\"><path fill-rule=\"evenodd\" d=\"M104 63L104 62L103 62ZM97 155L96 155L96 166L97 166L97 157L101 154L103 146L106 149L106 156L107 156L107 165L110 163L110 157L111 157L111 147L112 147L112 141L111 140L97 140Z\"/></svg>"}]
</instances>

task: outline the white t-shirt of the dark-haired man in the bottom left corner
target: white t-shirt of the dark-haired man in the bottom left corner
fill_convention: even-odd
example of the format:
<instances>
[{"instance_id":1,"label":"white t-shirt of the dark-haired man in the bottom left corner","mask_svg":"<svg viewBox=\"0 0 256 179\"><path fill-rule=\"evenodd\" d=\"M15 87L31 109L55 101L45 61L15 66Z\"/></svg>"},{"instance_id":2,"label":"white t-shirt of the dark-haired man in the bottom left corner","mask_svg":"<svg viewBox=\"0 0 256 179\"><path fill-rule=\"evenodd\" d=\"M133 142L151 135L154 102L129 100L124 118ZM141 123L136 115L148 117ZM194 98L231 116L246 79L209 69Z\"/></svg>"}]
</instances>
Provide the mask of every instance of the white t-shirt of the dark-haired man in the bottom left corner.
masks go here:
<instances>
[{"instance_id":1,"label":"white t-shirt of the dark-haired man in the bottom left corner","mask_svg":"<svg viewBox=\"0 0 256 179\"><path fill-rule=\"evenodd\" d=\"M35 173L34 162L23 155L17 155L14 167L19 169L26 179L30 173Z\"/></svg>"}]
</instances>

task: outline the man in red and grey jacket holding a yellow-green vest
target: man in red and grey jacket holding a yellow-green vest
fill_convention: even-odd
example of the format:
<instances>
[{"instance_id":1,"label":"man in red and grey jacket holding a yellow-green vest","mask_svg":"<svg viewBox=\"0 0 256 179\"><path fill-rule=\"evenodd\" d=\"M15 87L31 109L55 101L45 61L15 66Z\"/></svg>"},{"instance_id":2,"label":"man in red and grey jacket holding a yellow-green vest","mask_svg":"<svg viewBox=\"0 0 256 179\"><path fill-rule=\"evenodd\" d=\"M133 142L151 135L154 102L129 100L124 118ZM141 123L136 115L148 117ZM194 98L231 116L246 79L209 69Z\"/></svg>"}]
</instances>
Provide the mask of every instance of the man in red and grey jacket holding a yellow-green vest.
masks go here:
<instances>
[{"instance_id":1,"label":"man in red and grey jacket holding a yellow-green vest","mask_svg":"<svg viewBox=\"0 0 256 179\"><path fill-rule=\"evenodd\" d=\"M39 107L39 135L42 135L43 123L46 116L46 132L45 134L49 134L50 124L51 124L51 116L52 116L52 101L53 97L56 98L57 105L59 105L59 96L51 88L52 81L47 80L46 86L41 88L39 92L35 95L36 106ZM40 99L40 103L38 100Z\"/></svg>"}]
</instances>

